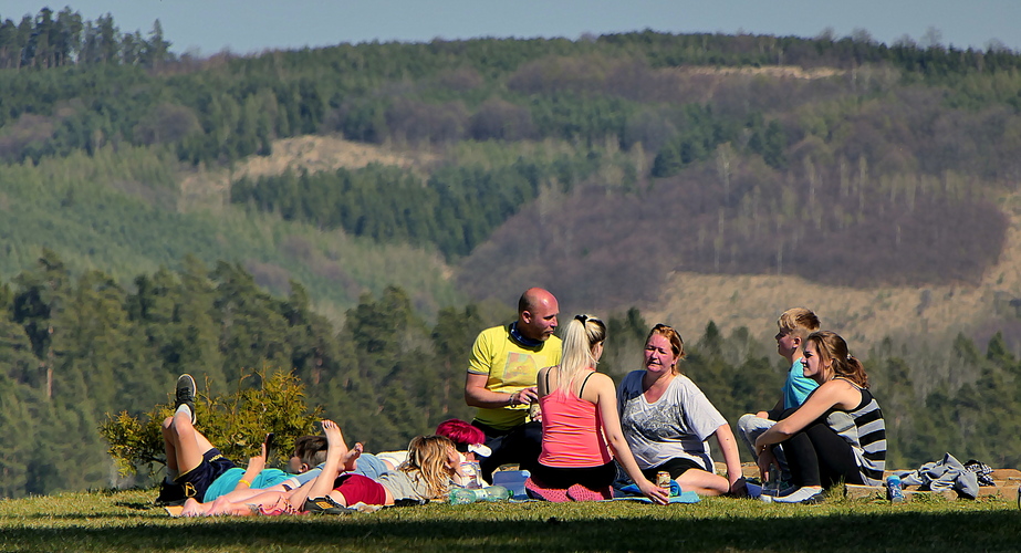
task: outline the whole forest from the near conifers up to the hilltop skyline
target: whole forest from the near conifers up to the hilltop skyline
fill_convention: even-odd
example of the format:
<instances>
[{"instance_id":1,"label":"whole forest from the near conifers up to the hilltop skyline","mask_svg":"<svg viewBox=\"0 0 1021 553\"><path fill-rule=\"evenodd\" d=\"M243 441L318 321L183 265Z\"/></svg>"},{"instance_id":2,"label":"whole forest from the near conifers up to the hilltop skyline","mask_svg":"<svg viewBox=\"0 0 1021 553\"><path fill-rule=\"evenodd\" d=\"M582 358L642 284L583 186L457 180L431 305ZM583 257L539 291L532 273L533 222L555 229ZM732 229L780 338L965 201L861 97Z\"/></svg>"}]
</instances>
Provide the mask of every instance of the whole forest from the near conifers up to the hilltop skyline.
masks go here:
<instances>
[{"instance_id":1,"label":"whole forest from the near conifers up to the hilltop skyline","mask_svg":"<svg viewBox=\"0 0 1021 553\"><path fill-rule=\"evenodd\" d=\"M646 30L196 58L171 39L0 9L0 416L23 429L0 438L3 497L131 483L97 428L181 372L210 395L292 374L353 439L399 448L470 417L471 340L528 285L611 319L618 378L670 274L928 305L987 285L1018 215L1003 48ZM413 161L249 170L308 136ZM1021 463L1021 283L1000 281L938 347L907 327L853 344L895 465ZM686 371L736 421L775 401L772 321L712 319L678 325Z\"/></svg>"}]
</instances>

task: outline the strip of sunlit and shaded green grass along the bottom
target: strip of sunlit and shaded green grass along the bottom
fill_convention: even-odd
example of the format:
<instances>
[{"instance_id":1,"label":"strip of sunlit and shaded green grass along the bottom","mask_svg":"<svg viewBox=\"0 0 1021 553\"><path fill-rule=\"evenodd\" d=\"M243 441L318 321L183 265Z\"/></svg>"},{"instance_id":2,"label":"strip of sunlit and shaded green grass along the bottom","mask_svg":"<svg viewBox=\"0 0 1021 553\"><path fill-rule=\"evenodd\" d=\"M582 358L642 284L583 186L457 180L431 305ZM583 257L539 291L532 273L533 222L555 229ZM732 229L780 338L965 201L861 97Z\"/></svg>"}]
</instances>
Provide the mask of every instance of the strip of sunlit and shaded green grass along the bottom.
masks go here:
<instances>
[{"instance_id":1,"label":"strip of sunlit and shaded green grass along the bottom","mask_svg":"<svg viewBox=\"0 0 1021 553\"><path fill-rule=\"evenodd\" d=\"M171 519L155 492L0 501L0 551L1015 551L1021 511L1000 499L820 505L708 499L656 507L498 503L345 517Z\"/></svg>"}]
</instances>

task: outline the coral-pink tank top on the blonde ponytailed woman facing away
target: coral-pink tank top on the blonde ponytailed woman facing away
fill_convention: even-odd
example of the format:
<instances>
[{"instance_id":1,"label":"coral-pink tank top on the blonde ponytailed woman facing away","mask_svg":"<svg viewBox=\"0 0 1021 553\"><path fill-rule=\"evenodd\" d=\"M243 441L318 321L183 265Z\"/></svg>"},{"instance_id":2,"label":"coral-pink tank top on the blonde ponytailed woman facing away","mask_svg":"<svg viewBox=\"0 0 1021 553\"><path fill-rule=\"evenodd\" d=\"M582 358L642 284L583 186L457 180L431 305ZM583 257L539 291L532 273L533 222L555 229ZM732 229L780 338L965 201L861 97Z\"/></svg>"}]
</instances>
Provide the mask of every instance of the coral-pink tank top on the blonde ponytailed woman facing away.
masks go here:
<instances>
[{"instance_id":1,"label":"coral-pink tank top on the blonde ponytailed woman facing away","mask_svg":"<svg viewBox=\"0 0 1021 553\"><path fill-rule=\"evenodd\" d=\"M539 398L539 406L542 408L539 462L546 467L587 468L613 460L595 404L558 389Z\"/></svg>"}]
</instances>

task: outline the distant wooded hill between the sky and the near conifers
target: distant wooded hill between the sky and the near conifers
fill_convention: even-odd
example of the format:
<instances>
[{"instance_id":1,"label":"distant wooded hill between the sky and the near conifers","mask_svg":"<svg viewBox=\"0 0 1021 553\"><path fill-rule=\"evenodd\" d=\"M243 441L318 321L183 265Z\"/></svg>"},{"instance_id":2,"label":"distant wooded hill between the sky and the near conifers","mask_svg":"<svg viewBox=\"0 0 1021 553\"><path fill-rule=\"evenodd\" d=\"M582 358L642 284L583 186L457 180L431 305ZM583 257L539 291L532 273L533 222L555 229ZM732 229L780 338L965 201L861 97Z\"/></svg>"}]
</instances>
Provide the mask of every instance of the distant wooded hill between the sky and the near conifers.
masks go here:
<instances>
[{"instance_id":1,"label":"distant wooded hill between the sky and the near conifers","mask_svg":"<svg viewBox=\"0 0 1021 553\"><path fill-rule=\"evenodd\" d=\"M678 272L977 286L1021 174L1003 50L646 31L202 60L110 18L39 42L77 29L48 13L0 60L9 275L41 247L123 279L192 253L335 321L388 283L426 314L535 283L661 311Z\"/></svg>"}]
</instances>

